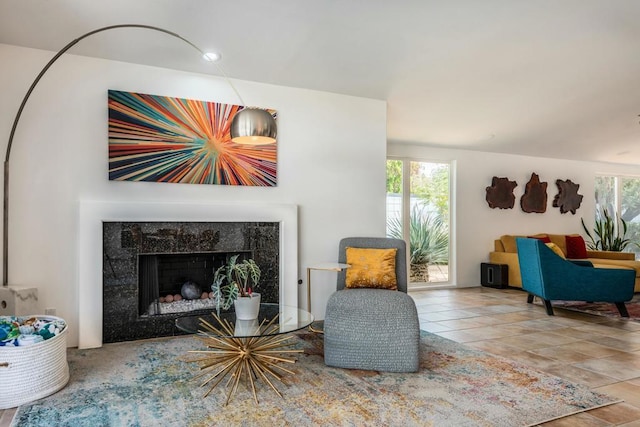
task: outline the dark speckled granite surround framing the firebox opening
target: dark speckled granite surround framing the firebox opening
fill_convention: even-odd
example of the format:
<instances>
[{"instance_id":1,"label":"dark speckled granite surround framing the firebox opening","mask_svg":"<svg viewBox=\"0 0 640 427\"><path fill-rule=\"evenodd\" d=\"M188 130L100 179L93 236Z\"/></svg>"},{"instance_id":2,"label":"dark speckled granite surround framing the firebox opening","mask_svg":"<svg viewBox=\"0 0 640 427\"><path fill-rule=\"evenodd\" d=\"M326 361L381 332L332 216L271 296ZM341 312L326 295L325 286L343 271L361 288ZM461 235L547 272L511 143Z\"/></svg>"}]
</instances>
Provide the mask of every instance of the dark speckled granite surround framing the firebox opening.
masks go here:
<instances>
[{"instance_id":1,"label":"dark speckled granite surround framing the firebox opening","mask_svg":"<svg viewBox=\"0 0 640 427\"><path fill-rule=\"evenodd\" d=\"M175 318L139 311L138 258L143 254L249 252L262 271L263 302L279 301L277 222L103 222L103 342L178 334ZM205 287L206 285L206 287ZM210 290L210 284L203 284Z\"/></svg>"}]
</instances>

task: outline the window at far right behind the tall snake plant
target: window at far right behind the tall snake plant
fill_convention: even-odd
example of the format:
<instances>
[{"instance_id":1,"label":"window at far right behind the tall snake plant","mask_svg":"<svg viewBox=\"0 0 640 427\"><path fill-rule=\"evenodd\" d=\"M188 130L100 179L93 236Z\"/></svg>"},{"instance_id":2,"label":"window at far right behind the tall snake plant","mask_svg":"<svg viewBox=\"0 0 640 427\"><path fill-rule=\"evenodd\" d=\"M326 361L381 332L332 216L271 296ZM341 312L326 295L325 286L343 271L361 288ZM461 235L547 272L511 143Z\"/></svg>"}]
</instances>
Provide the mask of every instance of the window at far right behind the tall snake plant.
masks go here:
<instances>
[{"instance_id":1,"label":"window at far right behind the tall snake plant","mask_svg":"<svg viewBox=\"0 0 640 427\"><path fill-rule=\"evenodd\" d=\"M640 243L640 178L596 176L595 196L596 221L604 220L604 212L606 212L616 223L616 231L619 230L620 235L626 225L627 232L624 237L629 240L629 244L624 252L635 252L638 258L640 248L635 243ZM621 220L617 220L618 218ZM589 231L594 235L593 231Z\"/></svg>"}]
</instances>

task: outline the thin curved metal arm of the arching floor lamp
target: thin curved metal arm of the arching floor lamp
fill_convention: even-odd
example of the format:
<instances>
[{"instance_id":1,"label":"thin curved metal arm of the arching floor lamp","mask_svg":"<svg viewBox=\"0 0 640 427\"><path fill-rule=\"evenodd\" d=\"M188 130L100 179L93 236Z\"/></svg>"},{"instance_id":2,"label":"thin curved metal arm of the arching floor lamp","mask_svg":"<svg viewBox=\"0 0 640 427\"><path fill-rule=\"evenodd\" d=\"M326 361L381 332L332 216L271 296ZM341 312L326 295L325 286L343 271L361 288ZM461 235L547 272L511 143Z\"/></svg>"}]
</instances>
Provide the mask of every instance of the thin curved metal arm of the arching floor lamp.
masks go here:
<instances>
[{"instance_id":1,"label":"thin curved metal arm of the arching floor lamp","mask_svg":"<svg viewBox=\"0 0 640 427\"><path fill-rule=\"evenodd\" d=\"M4 204L3 204L4 208L3 208L3 223L2 223L2 230L3 230L2 232L2 286L4 287L8 286L7 281L9 277L9 271L8 271L9 270L9 157L11 155L11 146L13 145L13 136L16 132L16 127L18 126L18 122L20 121L20 116L22 116L22 110L24 110L24 106L29 100L29 97L31 96L31 92L33 92L33 89L35 89L35 87L38 85L38 82L40 82L40 79L42 78L42 76L45 75L45 73L58 60L58 58L60 58L66 51L68 51L73 46L75 46L79 41L93 34L100 33L103 31L113 30L115 28L143 28L147 30L159 31L161 33L165 33L182 40L183 42L187 43L189 46L197 50L202 56L204 56L205 54L198 46L191 43L189 40L185 39L179 34L165 30L163 28L153 27L151 25L142 25L142 24L120 24L120 25L110 25L108 27L98 28L97 30L93 30L86 34L83 34L82 36L78 37L77 39L67 44L60 51L58 51L58 53L56 53L56 55L53 58L51 58L51 60L47 63L47 65L44 66L44 68L42 69L42 71L40 71L40 73L35 78L33 83L31 83L29 90L27 91L26 95L22 99L22 103L20 104L20 108L18 109L18 113L16 114L16 118L13 119L13 126L11 127L11 134L9 135L9 142L7 143L7 154L5 155L5 159L4 159ZM218 67L218 69L222 71L220 67ZM229 82L229 84L231 85L231 88L234 90L234 92L236 92L236 95L238 95L240 100L242 100L242 98L238 94L238 91L233 86L233 84L231 84L231 82L229 81L227 76L224 74L224 72L223 72L223 75L225 79L227 79L227 82Z\"/></svg>"}]
</instances>

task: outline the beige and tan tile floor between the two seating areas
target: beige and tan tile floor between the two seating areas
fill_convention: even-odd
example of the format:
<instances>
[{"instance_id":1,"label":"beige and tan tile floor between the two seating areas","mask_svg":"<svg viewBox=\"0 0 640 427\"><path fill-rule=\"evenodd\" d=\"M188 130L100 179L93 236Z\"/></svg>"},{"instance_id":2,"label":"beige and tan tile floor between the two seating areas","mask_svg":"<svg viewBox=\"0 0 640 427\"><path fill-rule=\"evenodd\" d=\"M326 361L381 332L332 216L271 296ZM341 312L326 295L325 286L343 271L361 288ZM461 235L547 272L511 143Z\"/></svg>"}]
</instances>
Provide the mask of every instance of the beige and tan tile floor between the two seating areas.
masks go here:
<instances>
[{"instance_id":1,"label":"beige and tan tile floor between the two seating areas","mask_svg":"<svg viewBox=\"0 0 640 427\"><path fill-rule=\"evenodd\" d=\"M411 292L422 329L624 400L544 427L640 427L640 322L556 309L547 316L515 289ZM0 411L8 427L15 410Z\"/></svg>"}]
</instances>

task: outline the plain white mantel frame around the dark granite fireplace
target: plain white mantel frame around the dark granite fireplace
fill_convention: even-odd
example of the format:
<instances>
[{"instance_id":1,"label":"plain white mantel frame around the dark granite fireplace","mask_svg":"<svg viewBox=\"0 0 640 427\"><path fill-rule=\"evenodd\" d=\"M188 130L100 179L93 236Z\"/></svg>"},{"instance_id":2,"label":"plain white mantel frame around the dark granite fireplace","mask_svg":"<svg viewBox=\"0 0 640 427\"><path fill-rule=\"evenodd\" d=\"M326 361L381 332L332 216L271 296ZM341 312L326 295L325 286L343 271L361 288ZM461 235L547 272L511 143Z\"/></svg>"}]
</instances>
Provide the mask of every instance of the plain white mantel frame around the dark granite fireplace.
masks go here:
<instances>
[{"instance_id":1,"label":"plain white mantel frame around the dark granite fireplace","mask_svg":"<svg viewBox=\"0 0 640 427\"><path fill-rule=\"evenodd\" d=\"M80 201L78 347L102 346L102 223L278 222L280 304L298 305L298 207L267 203Z\"/></svg>"}]
</instances>

